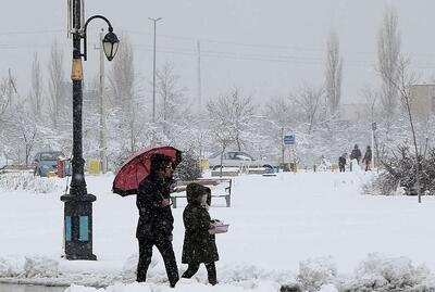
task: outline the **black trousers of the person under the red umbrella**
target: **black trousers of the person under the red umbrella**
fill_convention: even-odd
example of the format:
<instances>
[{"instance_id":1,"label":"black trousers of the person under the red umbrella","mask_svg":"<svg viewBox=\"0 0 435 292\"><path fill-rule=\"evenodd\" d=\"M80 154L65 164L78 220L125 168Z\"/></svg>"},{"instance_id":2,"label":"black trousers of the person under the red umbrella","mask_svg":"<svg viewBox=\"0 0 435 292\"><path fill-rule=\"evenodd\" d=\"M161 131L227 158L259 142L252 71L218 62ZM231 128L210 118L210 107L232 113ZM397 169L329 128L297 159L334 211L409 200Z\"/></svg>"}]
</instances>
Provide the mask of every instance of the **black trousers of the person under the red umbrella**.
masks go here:
<instances>
[{"instance_id":1,"label":"black trousers of the person under the red umbrella","mask_svg":"<svg viewBox=\"0 0 435 292\"><path fill-rule=\"evenodd\" d=\"M137 264L137 281L145 282L147 280L147 271L152 257L152 246L156 245L163 257L170 284L171 287L175 287L178 281L178 268L171 239L166 237L157 237L156 239L138 239L138 241L139 263Z\"/></svg>"}]
</instances>

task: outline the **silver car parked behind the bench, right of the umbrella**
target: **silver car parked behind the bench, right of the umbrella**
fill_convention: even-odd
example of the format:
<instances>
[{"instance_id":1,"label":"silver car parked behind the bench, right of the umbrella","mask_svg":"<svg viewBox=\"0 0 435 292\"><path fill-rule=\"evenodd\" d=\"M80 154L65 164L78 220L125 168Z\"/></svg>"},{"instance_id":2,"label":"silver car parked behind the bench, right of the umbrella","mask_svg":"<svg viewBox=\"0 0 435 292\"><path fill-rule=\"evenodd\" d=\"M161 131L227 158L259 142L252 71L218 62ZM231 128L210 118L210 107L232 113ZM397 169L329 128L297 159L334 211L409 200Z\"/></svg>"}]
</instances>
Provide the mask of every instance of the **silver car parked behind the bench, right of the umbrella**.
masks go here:
<instances>
[{"instance_id":1,"label":"silver car parked behind the bench, right of the umbrella","mask_svg":"<svg viewBox=\"0 0 435 292\"><path fill-rule=\"evenodd\" d=\"M274 163L271 163L265 160L256 160L251 155L243 151L226 151L222 154L222 163L221 163L221 152L214 153L209 157L209 167L217 169L221 167L268 167L273 168L275 166Z\"/></svg>"}]
</instances>

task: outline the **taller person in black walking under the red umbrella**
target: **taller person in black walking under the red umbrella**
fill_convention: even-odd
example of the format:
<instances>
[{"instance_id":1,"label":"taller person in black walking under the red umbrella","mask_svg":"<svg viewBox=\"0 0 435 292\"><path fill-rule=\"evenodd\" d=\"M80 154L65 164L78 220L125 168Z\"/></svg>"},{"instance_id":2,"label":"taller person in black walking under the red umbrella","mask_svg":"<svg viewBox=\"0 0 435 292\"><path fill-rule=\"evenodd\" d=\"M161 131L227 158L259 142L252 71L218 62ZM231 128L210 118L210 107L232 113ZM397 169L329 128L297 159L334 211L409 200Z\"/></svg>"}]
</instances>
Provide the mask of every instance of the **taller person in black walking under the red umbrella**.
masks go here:
<instances>
[{"instance_id":1,"label":"taller person in black walking under the red umbrella","mask_svg":"<svg viewBox=\"0 0 435 292\"><path fill-rule=\"evenodd\" d=\"M162 154L151 157L151 173L139 183L136 205L139 220L136 238L139 241L137 281L145 282L151 263L152 246L161 253L172 288L178 281L178 268L172 246L174 217L171 211L171 185L173 183L172 160Z\"/></svg>"}]
</instances>

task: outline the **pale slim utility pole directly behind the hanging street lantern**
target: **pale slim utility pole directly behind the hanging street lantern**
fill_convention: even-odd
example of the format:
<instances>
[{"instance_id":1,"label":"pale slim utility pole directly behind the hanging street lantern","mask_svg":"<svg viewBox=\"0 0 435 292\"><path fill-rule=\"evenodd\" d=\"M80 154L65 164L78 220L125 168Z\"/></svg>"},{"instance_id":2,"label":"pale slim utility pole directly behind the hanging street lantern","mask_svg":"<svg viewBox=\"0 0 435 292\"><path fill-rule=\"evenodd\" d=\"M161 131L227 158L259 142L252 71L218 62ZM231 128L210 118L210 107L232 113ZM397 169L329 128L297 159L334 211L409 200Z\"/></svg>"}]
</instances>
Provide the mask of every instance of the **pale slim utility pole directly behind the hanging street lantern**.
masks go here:
<instances>
[{"instance_id":1,"label":"pale slim utility pole directly behind the hanging street lantern","mask_svg":"<svg viewBox=\"0 0 435 292\"><path fill-rule=\"evenodd\" d=\"M100 166L101 172L105 174L108 172L108 145L107 145L107 125L105 125L105 103L104 103L104 51L102 48L103 40L103 31L100 31L100 88L99 88L99 98L100 98Z\"/></svg>"}]
</instances>

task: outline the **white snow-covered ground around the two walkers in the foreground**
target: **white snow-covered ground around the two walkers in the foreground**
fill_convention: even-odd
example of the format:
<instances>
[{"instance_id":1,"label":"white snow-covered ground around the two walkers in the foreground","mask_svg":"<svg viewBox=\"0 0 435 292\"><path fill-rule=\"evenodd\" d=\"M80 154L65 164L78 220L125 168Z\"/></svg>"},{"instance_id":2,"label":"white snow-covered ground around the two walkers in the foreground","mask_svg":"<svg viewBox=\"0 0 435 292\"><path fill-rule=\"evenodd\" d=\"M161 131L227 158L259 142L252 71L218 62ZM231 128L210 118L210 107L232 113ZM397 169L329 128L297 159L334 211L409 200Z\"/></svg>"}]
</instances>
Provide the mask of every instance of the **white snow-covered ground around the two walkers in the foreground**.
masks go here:
<instances>
[{"instance_id":1,"label":"white snow-covered ground around the two walkers in the foreground","mask_svg":"<svg viewBox=\"0 0 435 292\"><path fill-rule=\"evenodd\" d=\"M357 287L435 289L435 198L361 194L371 173L279 173L236 177L232 207L215 199L212 217L231 224L216 236L216 287L201 267L170 290L154 251L149 283L134 283L137 263L135 196L111 192L113 175L87 176L94 203L97 262L62 255L66 179L0 177L0 281L107 287L107 292L277 291L298 283L322 292ZM42 185L42 187L40 187ZM37 189L37 192L33 191ZM217 190L216 190L217 191ZM174 250L181 258L185 202L173 210ZM179 265L181 272L186 269ZM323 284L323 288L322 288ZM73 285L70 291L97 291ZM353 289L353 290L351 290ZM410 291L410 290L409 290ZM413 290L412 290L413 291ZM415 290L418 291L418 290ZM419 290L420 291L420 290ZM421 290L424 291L424 290ZM431 290L427 290L431 291Z\"/></svg>"}]
</instances>

